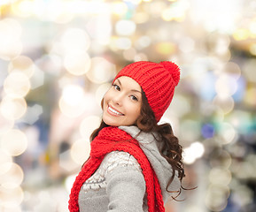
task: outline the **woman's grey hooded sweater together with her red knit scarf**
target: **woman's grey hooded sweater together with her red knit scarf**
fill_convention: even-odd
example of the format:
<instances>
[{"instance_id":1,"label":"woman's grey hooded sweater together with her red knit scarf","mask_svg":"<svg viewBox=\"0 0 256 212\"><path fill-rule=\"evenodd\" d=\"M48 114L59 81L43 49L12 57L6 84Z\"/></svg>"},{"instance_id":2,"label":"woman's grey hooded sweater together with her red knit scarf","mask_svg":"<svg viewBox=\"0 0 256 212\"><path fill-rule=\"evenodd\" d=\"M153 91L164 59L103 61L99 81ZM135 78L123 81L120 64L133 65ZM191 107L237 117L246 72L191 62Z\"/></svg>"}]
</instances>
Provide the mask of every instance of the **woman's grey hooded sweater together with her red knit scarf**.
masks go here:
<instances>
[{"instance_id":1,"label":"woman's grey hooded sweater together with her red knit scarf","mask_svg":"<svg viewBox=\"0 0 256 212\"><path fill-rule=\"evenodd\" d=\"M172 167L159 153L157 135L136 126L105 127L91 142L89 161L74 181L70 211L165 211ZM168 191L178 191L175 175Z\"/></svg>"}]
</instances>

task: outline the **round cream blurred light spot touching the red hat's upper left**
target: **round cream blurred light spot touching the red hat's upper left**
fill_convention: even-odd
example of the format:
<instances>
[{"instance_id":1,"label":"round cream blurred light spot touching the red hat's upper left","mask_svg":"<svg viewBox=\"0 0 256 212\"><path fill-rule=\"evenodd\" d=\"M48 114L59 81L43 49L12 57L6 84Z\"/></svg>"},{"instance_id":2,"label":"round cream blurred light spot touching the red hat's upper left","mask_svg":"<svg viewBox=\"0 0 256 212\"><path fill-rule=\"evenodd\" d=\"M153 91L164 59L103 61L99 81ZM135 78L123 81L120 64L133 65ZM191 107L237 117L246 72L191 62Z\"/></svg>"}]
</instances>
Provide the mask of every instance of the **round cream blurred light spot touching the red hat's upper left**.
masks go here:
<instances>
[{"instance_id":1,"label":"round cream blurred light spot touching the red hat's upper left","mask_svg":"<svg viewBox=\"0 0 256 212\"><path fill-rule=\"evenodd\" d=\"M115 76L115 65L105 60L103 57L93 57L91 67L86 76L90 81L101 84L112 80Z\"/></svg>"}]
</instances>

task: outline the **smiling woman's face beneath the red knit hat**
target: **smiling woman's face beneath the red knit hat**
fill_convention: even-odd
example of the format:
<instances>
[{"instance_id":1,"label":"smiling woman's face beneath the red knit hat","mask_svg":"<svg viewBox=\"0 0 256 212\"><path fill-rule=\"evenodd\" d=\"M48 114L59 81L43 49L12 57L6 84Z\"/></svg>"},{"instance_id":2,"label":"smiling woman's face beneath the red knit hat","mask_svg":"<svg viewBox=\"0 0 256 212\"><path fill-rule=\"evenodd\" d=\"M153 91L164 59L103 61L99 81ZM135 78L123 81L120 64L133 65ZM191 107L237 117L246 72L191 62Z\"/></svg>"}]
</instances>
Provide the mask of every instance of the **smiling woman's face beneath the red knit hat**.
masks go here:
<instances>
[{"instance_id":1,"label":"smiling woman's face beneath the red knit hat","mask_svg":"<svg viewBox=\"0 0 256 212\"><path fill-rule=\"evenodd\" d=\"M105 93L103 121L106 125L135 125L142 107L142 89L136 80L122 76Z\"/></svg>"}]
</instances>

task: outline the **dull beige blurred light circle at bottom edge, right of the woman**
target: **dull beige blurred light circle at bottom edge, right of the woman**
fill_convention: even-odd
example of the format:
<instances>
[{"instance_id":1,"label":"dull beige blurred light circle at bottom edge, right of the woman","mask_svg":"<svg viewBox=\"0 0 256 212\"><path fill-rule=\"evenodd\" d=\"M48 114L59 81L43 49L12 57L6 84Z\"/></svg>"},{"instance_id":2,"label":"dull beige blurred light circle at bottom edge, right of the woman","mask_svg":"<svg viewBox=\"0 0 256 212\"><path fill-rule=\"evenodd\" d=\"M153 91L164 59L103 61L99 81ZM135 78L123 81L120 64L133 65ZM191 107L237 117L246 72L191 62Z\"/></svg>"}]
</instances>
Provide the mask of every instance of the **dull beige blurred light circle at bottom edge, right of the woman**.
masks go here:
<instances>
[{"instance_id":1,"label":"dull beige blurred light circle at bottom edge, right of the woman","mask_svg":"<svg viewBox=\"0 0 256 212\"><path fill-rule=\"evenodd\" d=\"M228 186L209 186L206 193L206 207L212 211L221 211L226 208L229 198Z\"/></svg>"}]
</instances>

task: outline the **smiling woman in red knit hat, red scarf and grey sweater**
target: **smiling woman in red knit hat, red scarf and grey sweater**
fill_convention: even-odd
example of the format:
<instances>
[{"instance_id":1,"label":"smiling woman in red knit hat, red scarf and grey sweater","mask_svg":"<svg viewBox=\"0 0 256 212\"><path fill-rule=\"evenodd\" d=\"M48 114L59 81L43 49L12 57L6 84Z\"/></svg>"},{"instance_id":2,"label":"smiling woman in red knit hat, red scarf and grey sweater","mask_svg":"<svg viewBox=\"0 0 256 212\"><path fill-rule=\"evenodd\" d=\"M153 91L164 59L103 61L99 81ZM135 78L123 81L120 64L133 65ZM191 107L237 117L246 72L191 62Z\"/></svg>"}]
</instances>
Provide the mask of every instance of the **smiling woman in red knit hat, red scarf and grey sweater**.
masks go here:
<instances>
[{"instance_id":1,"label":"smiling woman in red knit hat, red scarf and grey sweater","mask_svg":"<svg viewBox=\"0 0 256 212\"><path fill-rule=\"evenodd\" d=\"M74 181L70 211L165 211L164 202L180 193L182 147L171 125L158 125L179 80L179 67L168 61L120 70L103 98L102 123Z\"/></svg>"}]
</instances>

